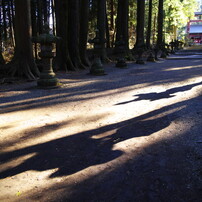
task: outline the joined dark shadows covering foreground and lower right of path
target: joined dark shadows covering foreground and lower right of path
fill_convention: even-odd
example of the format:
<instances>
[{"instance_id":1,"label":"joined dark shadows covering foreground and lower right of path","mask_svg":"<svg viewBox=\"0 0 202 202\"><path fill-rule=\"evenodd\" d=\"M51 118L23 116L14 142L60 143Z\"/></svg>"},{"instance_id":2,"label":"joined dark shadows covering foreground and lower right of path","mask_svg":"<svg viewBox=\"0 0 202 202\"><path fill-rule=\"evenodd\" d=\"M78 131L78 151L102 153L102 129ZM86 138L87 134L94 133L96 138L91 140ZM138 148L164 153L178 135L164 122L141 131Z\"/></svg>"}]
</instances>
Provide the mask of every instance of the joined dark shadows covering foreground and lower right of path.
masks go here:
<instances>
[{"instance_id":1,"label":"joined dark shadows covering foreground and lower right of path","mask_svg":"<svg viewBox=\"0 0 202 202\"><path fill-rule=\"evenodd\" d=\"M150 136L178 119L192 118L193 121L196 119L196 123L190 131L183 134L179 132L166 141L162 137L162 141L149 145L139 154L134 150L134 158L124 164L120 163L109 173L72 185L71 193L62 183L61 186L46 190L46 195L53 197L52 201L200 201L201 173L196 172L187 159L188 155L198 157L193 150L193 139L189 144L185 143L202 131L201 124L197 122L197 116L202 115L201 101L199 96L117 124L3 153L0 155L2 164L27 154L36 155L3 171L0 177L13 176L27 170L45 171L52 168L58 170L51 178L68 176L124 155L122 151L113 150L118 142ZM116 132L108 137L92 138L115 129ZM63 190L62 194L55 194L57 190ZM33 199L45 201L43 197L36 194Z\"/></svg>"}]
</instances>

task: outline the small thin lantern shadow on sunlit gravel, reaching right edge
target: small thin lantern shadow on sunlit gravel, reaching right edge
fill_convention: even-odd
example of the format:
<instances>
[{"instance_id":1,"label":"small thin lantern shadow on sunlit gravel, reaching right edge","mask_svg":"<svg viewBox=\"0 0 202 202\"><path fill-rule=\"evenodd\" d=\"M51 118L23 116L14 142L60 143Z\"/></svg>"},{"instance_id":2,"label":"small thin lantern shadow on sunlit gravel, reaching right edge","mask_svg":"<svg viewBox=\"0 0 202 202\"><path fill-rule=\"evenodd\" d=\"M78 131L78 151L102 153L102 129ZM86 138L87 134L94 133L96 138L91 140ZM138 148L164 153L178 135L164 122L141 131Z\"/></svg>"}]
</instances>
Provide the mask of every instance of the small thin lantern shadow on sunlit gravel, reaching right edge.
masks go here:
<instances>
[{"instance_id":1,"label":"small thin lantern shadow on sunlit gravel, reaching right edge","mask_svg":"<svg viewBox=\"0 0 202 202\"><path fill-rule=\"evenodd\" d=\"M202 82L198 82L198 83L194 83L194 84L190 84L190 85L186 85L186 86L171 88L169 90L166 90L166 91L160 92L160 93L154 92L154 93L137 94L134 96L138 97L138 98L135 98L133 100L126 101L126 102L120 102L116 105L123 105L123 104L128 104L131 102L135 102L135 101L141 101L141 100L155 101L155 100L160 100L160 99L172 98L175 96L175 95L173 95L175 93L191 90L193 87L200 86L201 84L202 84Z\"/></svg>"}]
</instances>

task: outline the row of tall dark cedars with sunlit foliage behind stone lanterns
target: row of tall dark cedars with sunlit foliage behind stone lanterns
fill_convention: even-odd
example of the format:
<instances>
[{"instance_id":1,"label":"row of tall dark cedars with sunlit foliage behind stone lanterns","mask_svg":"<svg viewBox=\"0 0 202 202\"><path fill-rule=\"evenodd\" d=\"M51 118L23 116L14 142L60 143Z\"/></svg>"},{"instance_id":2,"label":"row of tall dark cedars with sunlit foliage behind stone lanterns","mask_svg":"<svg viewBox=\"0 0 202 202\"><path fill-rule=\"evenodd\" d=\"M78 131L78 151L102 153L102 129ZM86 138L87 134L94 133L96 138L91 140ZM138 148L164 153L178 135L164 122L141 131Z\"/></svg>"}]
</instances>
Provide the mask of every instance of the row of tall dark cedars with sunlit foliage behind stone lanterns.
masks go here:
<instances>
[{"instance_id":1,"label":"row of tall dark cedars with sunlit foliage behind stone lanterns","mask_svg":"<svg viewBox=\"0 0 202 202\"><path fill-rule=\"evenodd\" d=\"M31 37L40 35L46 23L62 38L56 47L55 68L77 70L89 66L88 40L96 29L103 59L106 50L120 41L127 53L145 44L160 47L167 35L172 36L169 40L176 38L177 25L186 23L195 5L195 0L2 0L0 71L30 79L39 75L38 46L33 46ZM14 56L7 63L4 56L12 47Z\"/></svg>"}]
</instances>

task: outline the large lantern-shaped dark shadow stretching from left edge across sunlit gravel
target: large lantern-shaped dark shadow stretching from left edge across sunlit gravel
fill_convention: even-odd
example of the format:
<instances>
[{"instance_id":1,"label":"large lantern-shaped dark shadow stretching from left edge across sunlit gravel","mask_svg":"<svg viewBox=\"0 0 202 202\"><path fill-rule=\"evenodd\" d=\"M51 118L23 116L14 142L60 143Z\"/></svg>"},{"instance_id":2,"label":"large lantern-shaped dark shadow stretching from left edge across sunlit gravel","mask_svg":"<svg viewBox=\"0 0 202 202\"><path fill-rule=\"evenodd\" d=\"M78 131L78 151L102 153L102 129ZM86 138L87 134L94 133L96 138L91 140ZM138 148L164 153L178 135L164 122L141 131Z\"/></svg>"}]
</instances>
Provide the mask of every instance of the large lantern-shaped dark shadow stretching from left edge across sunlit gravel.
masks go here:
<instances>
[{"instance_id":1,"label":"large lantern-shaped dark shadow stretching from left edge across sunlit gravel","mask_svg":"<svg viewBox=\"0 0 202 202\"><path fill-rule=\"evenodd\" d=\"M147 117L153 118L144 120ZM0 155L2 164L28 154L34 154L34 156L14 168L1 172L0 178L27 170L45 171L54 168L58 171L50 177L74 174L89 166L106 163L121 156L122 151L112 150L117 142L149 136L168 127L169 124L167 116L155 118L155 112L153 112L117 124L4 153ZM94 138L111 130L116 132L108 137Z\"/></svg>"}]
</instances>

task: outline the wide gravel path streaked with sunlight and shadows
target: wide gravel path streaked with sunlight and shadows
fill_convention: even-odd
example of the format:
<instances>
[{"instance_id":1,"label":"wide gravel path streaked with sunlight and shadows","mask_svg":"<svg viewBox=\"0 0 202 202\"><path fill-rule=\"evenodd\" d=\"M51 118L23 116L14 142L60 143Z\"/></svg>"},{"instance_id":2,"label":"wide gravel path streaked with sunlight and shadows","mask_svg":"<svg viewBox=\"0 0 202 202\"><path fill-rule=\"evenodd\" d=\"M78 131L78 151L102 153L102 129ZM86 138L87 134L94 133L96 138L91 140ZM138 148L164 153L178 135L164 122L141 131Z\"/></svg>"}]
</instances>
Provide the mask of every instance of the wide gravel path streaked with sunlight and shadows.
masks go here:
<instances>
[{"instance_id":1,"label":"wide gravel path streaked with sunlight and shadows","mask_svg":"<svg viewBox=\"0 0 202 202\"><path fill-rule=\"evenodd\" d=\"M201 54L1 85L0 201L200 202Z\"/></svg>"}]
</instances>

